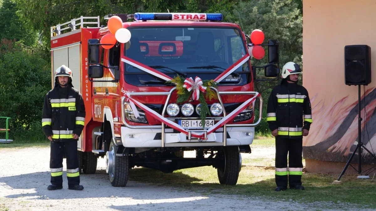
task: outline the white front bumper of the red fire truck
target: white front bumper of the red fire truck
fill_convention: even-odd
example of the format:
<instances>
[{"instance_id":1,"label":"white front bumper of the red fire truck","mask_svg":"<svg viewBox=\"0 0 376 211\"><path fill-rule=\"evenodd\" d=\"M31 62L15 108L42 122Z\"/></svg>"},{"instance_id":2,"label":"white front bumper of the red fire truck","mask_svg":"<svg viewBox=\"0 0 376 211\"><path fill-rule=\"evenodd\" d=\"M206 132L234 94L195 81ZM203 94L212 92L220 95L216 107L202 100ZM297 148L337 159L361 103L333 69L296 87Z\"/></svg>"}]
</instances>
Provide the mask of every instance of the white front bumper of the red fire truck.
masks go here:
<instances>
[{"instance_id":1,"label":"white front bumper of the red fire truck","mask_svg":"<svg viewBox=\"0 0 376 211\"><path fill-rule=\"evenodd\" d=\"M165 129L165 147L183 146L223 146L223 128L207 136L207 140L188 140L183 133L172 133L170 128ZM250 145L253 142L254 127L232 127L227 128L227 146ZM162 147L162 129L131 129L121 127L121 142L124 147L149 148Z\"/></svg>"}]
</instances>

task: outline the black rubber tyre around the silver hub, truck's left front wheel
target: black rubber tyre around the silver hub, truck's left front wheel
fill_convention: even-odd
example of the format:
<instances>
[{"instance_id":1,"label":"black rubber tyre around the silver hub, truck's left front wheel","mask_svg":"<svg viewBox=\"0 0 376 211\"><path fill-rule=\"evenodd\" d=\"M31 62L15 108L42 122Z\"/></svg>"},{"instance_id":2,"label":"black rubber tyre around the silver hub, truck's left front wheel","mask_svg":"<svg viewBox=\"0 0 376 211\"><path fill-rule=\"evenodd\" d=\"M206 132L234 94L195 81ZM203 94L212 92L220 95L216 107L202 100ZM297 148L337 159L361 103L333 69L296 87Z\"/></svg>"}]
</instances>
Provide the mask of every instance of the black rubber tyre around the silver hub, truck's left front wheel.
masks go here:
<instances>
[{"instance_id":1,"label":"black rubber tyre around the silver hub, truck's left front wheel","mask_svg":"<svg viewBox=\"0 0 376 211\"><path fill-rule=\"evenodd\" d=\"M114 172L109 172L111 185L114 187L125 187L128 182L129 175L129 157L116 156L118 146L111 142L109 152L114 149Z\"/></svg>"}]
</instances>

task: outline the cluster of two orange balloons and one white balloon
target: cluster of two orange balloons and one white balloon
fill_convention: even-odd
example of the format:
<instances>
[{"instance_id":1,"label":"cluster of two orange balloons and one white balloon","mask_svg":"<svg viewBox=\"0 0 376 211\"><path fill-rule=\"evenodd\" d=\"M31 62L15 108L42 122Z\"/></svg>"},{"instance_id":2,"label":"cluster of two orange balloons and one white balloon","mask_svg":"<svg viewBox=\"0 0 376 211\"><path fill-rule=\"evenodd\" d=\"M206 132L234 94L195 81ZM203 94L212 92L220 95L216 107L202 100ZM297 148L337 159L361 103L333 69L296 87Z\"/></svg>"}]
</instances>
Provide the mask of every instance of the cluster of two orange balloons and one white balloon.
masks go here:
<instances>
[{"instance_id":1,"label":"cluster of two orange balloons and one white balloon","mask_svg":"<svg viewBox=\"0 0 376 211\"><path fill-rule=\"evenodd\" d=\"M112 44L112 45L102 45L103 48L109 49L114 47L116 41L121 43L126 43L130 40L130 32L128 29L123 28L123 21L118 16L112 16L107 22L108 30L111 32L106 34L100 39L101 44Z\"/></svg>"}]
</instances>

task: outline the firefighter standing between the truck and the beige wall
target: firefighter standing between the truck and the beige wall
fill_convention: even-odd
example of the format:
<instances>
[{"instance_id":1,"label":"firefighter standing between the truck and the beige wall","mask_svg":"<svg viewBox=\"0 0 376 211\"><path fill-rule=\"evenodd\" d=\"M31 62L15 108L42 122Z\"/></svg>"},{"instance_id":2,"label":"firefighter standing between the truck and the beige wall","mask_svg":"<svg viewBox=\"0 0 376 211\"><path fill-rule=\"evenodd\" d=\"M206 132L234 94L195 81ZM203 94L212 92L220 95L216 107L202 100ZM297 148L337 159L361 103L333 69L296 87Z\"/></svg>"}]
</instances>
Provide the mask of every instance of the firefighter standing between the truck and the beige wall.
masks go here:
<instances>
[{"instance_id":1,"label":"firefighter standing between the truck and the beige wall","mask_svg":"<svg viewBox=\"0 0 376 211\"><path fill-rule=\"evenodd\" d=\"M308 91L297 84L299 65L286 63L282 68L282 81L270 93L267 122L276 139L275 191L304 190L302 186L302 142L312 123L311 102ZM288 168L287 168L288 154Z\"/></svg>"}]
</instances>

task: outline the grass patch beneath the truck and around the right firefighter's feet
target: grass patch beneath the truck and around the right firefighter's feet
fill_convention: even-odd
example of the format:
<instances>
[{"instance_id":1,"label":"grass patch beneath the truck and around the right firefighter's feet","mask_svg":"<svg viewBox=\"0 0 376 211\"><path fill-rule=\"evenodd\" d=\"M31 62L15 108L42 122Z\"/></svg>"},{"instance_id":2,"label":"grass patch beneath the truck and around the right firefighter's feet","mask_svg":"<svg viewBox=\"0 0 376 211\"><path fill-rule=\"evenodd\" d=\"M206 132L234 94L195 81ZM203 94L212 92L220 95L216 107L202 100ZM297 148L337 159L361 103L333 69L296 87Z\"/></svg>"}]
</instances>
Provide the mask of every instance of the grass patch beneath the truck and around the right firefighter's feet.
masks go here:
<instances>
[{"instance_id":1,"label":"grass patch beneath the truck and around the right firefighter's feet","mask_svg":"<svg viewBox=\"0 0 376 211\"><path fill-rule=\"evenodd\" d=\"M173 173L162 173L147 168L132 169L130 180L156 183L165 186L179 187L203 194L239 194L242 196L271 197L276 200L296 200L301 203L316 201L334 202L339 209L341 203L357 203L376 208L376 182L359 180L357 175L344 175L343 184L331 184L338 175L303 173L302 182L306 190L287 190L275 192L274 170L260 167L242 167L238 183L235 186L220 185L217 170L213 167L198 167L176 170ZM339 201L339 202L338 202ZM344 205L343 208L346 208Z\"/></svg>"}]
</instances>

